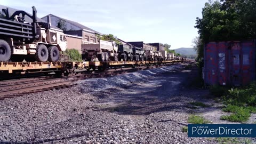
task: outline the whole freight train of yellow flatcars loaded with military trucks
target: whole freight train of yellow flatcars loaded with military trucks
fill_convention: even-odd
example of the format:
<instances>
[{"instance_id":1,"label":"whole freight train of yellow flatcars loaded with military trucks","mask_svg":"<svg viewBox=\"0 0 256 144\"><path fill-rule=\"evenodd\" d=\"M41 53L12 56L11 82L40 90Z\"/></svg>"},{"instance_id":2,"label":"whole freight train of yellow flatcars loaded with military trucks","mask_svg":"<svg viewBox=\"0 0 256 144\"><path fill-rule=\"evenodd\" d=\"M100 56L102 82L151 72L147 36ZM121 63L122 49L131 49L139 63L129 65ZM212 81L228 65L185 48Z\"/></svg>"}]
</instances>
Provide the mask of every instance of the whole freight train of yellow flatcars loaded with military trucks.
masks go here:
<instances>
[{"instance_id":1,"label":"whole freight train of yellow flatcars loaded with military trucks","mask_svg":"<svg viewBox=\"0 0 256 144\"><path fill-rule=\"evenodd\" d=\"M166 51L146 51L131 44L100 40L99 44L82 44L83 62L59 62L61 52L67 49L65 34L50 23L38 22L36 8L32 8L33 15L25 11L10 15L8 8L0 14L0 73L70 73L74 69L100 70L185 60ZM27 22L26 17L33 21Z\"/></svg>"}]
</instances>

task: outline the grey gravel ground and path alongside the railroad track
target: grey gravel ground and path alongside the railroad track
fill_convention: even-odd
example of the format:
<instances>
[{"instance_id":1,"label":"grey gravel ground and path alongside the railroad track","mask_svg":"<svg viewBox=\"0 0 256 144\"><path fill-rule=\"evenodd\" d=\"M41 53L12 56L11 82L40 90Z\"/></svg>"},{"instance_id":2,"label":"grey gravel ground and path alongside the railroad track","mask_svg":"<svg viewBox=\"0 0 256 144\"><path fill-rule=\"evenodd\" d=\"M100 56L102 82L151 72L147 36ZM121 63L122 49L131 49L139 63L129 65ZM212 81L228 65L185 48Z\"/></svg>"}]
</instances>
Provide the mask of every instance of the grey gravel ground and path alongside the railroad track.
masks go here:
<instances>
[{"instance_id":1,"label":"grey gravel ground and path alongside the railroad track","mask_svg":"<svg viewBox=\"0 0 256 144\"><path fill-rule=\"evenodd\" d=\"M197 70L186 65L0 101L0 143L215 143L181 130L188 102L208 94L195 89Z\"/></svg>"}]
</instances>

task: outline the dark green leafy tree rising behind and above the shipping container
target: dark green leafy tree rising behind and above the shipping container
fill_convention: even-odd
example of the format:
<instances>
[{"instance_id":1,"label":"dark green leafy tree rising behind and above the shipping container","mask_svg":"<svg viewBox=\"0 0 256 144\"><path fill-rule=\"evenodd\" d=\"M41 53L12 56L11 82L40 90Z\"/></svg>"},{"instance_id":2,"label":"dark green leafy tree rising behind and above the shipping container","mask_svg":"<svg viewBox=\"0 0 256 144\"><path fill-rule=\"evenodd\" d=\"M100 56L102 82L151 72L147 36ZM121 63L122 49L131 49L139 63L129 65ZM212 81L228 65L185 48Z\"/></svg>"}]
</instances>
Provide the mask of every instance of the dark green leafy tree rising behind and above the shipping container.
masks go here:
<instances>
[{"instance_id":1,"label":"dark green leafy tree rising behind and above the shipping container","mask_svg":"<svg viewBox=\"0 0 256 144\"><path fill-rule=\"evenodd\" d=\"M202 18L196 18L199 37L193 40L197 60L204 57L204 43L241 41L256 37L256 1L221 0L205 3Z\"/></svg>"}]
</instances>

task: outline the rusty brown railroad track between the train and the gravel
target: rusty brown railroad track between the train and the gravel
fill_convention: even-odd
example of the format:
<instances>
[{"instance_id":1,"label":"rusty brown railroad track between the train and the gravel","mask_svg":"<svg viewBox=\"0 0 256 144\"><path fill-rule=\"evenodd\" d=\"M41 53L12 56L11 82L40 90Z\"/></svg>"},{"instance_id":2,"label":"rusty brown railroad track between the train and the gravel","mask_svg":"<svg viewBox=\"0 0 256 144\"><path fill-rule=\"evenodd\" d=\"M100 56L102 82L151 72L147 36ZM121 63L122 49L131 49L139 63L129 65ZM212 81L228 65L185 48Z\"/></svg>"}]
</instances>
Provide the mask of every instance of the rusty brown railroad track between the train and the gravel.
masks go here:
<instances>
[{"instance_id":1,"label":"rusty brown railroad track between the train and the gravel","mask_svg":"<svg viewBox=\"0 0 256 144\"><path fill-rule=\"evenodd\" d=\"M17 79L16 81L15 79L2 82L0 81L0 100L3 100L5 98L20 97L22 95L31 93L69 88L73 85L77 85L75 84L75 82L86 78L110 77L124 73L131 73L138 70L146 70L150 68L154 67L122 68L118 70L110 69L108 71L103 71L100 73L86 73L59 78L47 78L47 76L45 76Z\"/></svg>"}]
</instances>

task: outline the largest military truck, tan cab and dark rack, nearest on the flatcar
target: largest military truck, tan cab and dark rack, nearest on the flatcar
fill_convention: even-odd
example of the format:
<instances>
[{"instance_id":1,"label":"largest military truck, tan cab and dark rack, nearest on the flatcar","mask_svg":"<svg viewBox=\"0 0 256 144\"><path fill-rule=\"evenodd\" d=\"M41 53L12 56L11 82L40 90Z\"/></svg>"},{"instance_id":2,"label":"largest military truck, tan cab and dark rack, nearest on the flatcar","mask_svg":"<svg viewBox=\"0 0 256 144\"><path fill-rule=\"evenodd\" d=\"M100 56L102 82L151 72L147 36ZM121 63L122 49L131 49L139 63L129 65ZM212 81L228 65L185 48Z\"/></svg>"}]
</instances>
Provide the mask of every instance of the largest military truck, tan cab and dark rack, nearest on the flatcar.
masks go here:
<instances>
[{"instance_id":1,"label":"largest military truck, tan cab and dark rack, nearest on the flatcar","mask_svg":"<svg viewBox=\"0 0 256 144\"><path fill-rule=\"evenodd\" d=\"M2 9L0 17L0 61L58 61L60 52L67 49L61 30L52 29L50 23L37 22L36 7L33 15L25 11L9 14ZM25 17L33 22L25 21Z\"/></svg>"}]
</instances>

